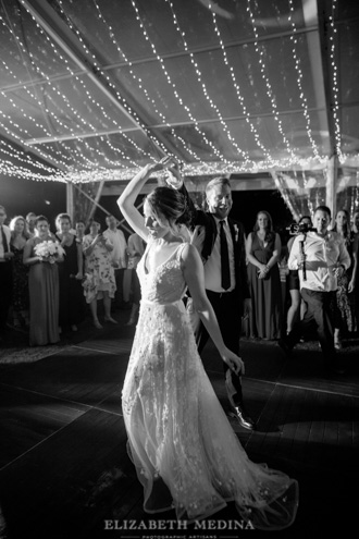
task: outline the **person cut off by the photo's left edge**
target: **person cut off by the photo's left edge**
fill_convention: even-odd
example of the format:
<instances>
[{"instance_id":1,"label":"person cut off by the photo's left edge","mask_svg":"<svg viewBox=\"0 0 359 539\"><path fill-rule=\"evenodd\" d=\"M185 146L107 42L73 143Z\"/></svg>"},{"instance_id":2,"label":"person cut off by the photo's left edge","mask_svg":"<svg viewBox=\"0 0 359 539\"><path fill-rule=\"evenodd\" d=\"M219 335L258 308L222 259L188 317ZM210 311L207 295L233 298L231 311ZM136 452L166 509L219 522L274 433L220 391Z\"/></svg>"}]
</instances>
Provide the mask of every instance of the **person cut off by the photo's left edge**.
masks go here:
<instances>
[{"instance_id":1,"label":"person cut off by the photo's left edge","mask_svg":"<svg viewBox=\"0 0 359 539\"><path fill-rule=\"evenodd\" d=\"M12 295L11 231L4 224L7 211L0 206L0 341L4 336Z\"/></svg>"}]
</instances>

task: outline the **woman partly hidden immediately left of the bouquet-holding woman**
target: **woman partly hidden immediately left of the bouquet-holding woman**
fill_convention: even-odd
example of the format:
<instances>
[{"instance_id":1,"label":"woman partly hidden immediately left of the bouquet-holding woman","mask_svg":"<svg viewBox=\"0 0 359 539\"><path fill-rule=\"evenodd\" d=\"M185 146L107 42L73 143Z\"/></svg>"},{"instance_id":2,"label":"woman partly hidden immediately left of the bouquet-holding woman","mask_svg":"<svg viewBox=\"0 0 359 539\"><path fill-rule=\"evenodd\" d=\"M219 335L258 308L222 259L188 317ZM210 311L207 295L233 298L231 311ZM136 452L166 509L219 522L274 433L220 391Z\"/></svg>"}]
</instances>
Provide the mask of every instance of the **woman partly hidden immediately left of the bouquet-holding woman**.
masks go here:
<instances>
[{"instance_id":1,"label":"woman partly hidden immediately left of the bouquet-holding woman","mask_svg":"<svg viewBox=\"0 0 359 539\"><path fill-rule=\"evenodd\" d=\"M29 234L26 220L22 216L14 217L10 221L11 241L10 249L14 254L12 259L12 316L15 328L29 323L29 296L28 296L28 266L24 265L24 248Z\"/></svg>"}]
</instances>

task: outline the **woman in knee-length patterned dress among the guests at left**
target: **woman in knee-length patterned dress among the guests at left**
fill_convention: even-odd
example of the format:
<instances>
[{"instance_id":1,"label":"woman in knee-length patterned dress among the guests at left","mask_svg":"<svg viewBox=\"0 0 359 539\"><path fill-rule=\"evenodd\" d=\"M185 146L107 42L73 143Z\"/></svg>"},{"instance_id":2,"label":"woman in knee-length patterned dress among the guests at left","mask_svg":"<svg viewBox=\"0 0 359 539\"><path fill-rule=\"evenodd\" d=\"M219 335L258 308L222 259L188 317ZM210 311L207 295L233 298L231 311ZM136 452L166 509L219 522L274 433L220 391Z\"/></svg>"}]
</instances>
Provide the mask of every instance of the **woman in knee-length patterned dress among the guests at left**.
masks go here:
<instances>
[{"instance_id":1,"label":"woman in knee-length patterned dress among the guests at left","mask_svg":"<svg viewBox=\"0 0 359 539\"><path fill-rule=\"evenodd\" d=\"M117 323L111 317L111 299L114 297L116 284L112 266L111 241L100 232L101 224L97 220L90 223L90 233L84 237L85 275L83 283L86 302L90 306L94 326L102 329L97 316L97 302L103 298L104 321Z\"/></svg>"}]
</instances>

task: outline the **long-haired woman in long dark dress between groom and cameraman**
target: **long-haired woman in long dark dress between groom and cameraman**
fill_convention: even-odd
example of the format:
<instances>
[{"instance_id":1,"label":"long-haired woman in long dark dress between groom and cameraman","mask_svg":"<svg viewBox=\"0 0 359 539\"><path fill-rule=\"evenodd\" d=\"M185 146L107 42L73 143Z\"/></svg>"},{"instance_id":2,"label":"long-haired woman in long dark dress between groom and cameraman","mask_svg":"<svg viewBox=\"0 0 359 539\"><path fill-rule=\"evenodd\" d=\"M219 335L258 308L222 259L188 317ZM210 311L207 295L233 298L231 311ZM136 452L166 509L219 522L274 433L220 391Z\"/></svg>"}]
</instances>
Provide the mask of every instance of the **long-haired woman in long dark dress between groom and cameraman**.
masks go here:
<instances>
[{"instance_id":1,"label":"long-haired woman in long dark dress between groom and cameraman","mask_svg":"<svg viewBox=\"0 0 359 539\"><path fill-rule=\"evenodd\" d=\"M248 234L246 254L251 294L251 336L275 340L282 330L282 290L278 269L281 237L273 231L268 211L259 211Z\"/></svg>"}]
</instances>

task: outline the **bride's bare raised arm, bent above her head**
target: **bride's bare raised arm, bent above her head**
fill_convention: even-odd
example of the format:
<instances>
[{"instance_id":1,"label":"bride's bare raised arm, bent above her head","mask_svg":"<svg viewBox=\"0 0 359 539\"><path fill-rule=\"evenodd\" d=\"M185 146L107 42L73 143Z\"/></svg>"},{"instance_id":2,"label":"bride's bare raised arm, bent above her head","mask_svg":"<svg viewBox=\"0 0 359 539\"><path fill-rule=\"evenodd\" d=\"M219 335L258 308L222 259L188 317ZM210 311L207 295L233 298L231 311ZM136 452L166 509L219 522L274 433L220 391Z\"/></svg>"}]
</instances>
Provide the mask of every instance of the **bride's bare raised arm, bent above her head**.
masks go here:
<instances>
[{"instance_id":1,"label":"bride's bare raised arm, bent above her head","mask_svg":"<svg viewBox=\"0 0 359 539\"><path fill-rule=\"evenodd\" d=\"M139 195L143 186L150 177L152 172L168 169L173 164L171 157L164 157L158 163L146 164L126 185L124 192L117 199L117 205L121 209L123 217L128 224L140 235L146 242L148 238L148 230L145 226L144 217L135 206L136 198Z\"/></svg>"}]
</instances>

